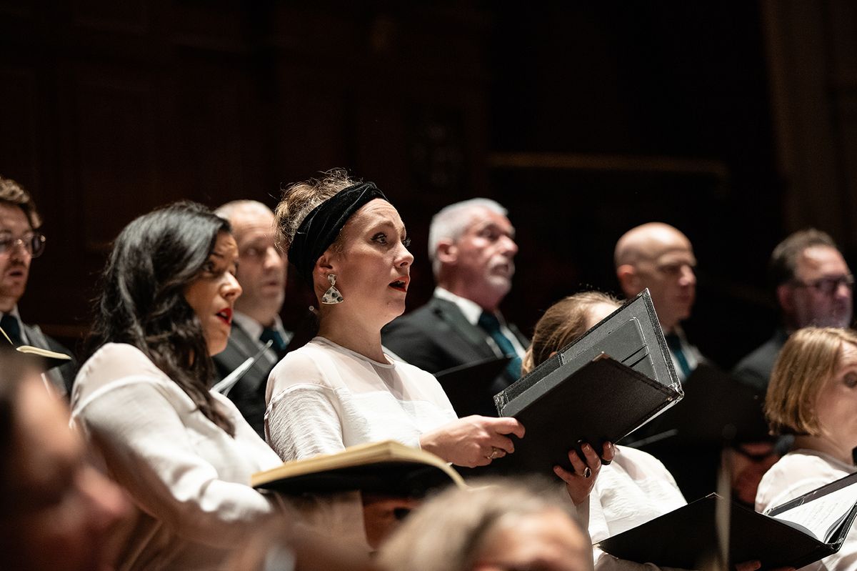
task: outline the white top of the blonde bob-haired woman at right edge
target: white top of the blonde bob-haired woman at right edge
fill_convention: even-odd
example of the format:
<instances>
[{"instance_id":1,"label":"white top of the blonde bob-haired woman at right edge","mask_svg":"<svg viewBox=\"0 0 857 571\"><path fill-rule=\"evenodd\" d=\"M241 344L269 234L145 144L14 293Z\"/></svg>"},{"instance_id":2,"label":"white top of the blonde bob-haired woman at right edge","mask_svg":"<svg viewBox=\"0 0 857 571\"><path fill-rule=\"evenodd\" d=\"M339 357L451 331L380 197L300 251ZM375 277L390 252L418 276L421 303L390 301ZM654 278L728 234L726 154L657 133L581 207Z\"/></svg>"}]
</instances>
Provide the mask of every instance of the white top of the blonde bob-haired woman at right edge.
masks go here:
<instances>
[{"instance_id":1,"label":"white top of the blonde bob-haired woman at right edge","mask_svg":"<svg viewBox=\"0 0 857 571\"><path fill-rule=\"evenodd\" d=\"M756 511L776 508L806 492L857 471L857 467L816 450L802 448L783 456L764 474L756 492ZM852 526L839 553L800 568L806 571L857 569L857 526Z\"/></svg>"}]
</instances>

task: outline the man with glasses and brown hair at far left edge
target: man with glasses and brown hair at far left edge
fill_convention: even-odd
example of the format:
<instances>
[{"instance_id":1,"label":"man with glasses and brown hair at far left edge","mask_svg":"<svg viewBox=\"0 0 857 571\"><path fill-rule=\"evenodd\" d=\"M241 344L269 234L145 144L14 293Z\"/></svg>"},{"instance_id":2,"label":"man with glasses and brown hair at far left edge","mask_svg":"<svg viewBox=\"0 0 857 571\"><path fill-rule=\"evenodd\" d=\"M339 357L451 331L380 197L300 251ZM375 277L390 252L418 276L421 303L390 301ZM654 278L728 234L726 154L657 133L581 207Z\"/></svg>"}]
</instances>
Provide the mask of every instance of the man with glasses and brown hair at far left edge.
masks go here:
<instances>
[{"instance_id":1,"label":"man with glasses and brown hair at far left edge","mask_svg":"<svg viewBox=\"0 0 857 571\"><path fill-rule=\"evenodd\" d=\"M30 345L70 355L68 349L21 321L18 301L27 289L30 262L45 251L45 237L33 199L20 184L0 177L0 328L15 346ZM0 342L8 341L0 336ZM75 380L73 362L45 373L58 394L67 395Z\"/></svg>"}]
</instances>

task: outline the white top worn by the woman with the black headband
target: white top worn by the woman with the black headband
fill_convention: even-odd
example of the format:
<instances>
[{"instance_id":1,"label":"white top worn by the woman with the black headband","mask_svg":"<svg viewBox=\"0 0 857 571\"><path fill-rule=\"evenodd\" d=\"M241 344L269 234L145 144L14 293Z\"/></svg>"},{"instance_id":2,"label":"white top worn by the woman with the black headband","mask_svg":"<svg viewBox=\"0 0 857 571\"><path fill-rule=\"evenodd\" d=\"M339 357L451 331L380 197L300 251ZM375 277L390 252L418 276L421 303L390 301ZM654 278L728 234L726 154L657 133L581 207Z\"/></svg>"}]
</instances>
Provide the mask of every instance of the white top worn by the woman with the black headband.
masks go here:
<instances>
[{"instance_id":1,"label":"white top worn by the woman with the black headband","mask_svg":"<svg viewBox=\"0 0 857 571\"><path fill-rule=\"evenodd\" d=\"M423 433L458 418L431 374L323 337L274 367L266 400L265 434L283 460L391 439L418 448Z\"/></svg>"}]
</instances>

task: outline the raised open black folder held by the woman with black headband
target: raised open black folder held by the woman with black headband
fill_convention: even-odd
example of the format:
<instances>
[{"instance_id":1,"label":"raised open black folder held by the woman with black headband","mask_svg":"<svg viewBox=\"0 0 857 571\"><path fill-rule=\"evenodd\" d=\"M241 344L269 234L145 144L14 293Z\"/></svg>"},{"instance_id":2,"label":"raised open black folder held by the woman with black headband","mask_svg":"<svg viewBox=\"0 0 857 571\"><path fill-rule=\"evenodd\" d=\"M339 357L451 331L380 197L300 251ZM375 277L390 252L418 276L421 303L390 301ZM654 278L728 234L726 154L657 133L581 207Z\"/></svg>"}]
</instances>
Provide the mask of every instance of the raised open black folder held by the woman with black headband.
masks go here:
<instances>
[{"instance_id":1,"label":"raised open black folder held by the woman with black headband","mask_svg":"<svg viewBox=\"0 0 857 571\"><path fill-rule=\"evenodd\" d=\"M578 340L494 396L501 417L524 424L501 473L571 469L568 451L624 436L682 397L649 290L626 302Z\"/></svg>"}]
</instances>

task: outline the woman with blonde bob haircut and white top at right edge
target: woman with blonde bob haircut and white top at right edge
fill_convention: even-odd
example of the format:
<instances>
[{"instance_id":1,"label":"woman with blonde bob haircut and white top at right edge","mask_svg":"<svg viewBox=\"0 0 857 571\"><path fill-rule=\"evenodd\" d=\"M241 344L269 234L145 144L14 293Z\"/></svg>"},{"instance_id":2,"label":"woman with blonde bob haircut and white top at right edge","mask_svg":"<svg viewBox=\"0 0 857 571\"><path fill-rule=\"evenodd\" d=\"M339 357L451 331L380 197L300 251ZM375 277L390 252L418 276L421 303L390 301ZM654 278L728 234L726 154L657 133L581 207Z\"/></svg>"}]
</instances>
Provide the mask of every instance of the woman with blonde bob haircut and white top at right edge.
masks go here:
<instances>
[{"instance_id":1,"label":"woman with blonde bob haircut and white top at right edge","mask_svg":"<svg viewBox=\"0 0 857 571\"><path fill-rule=\"evenodd\" d=\"M857 472L857 332L805 328L791 334L771 371L764 413L773 434L794 435L794 447L762 478L758 512ZM805 569L854 568L852 526L838 553Z\"/></svg>"}]
</instances>

